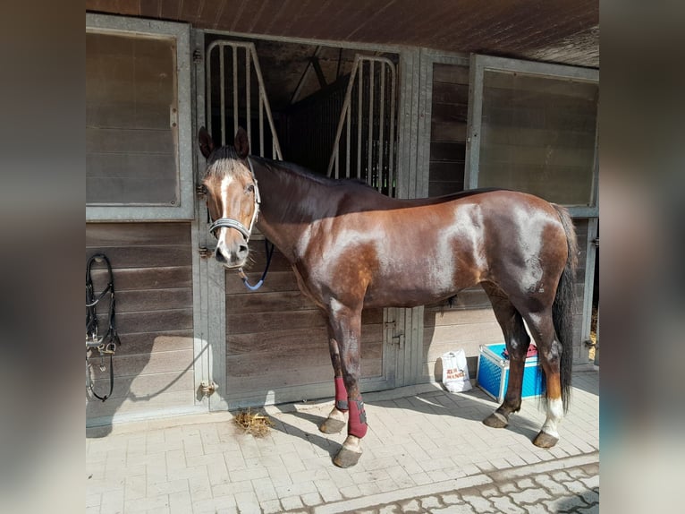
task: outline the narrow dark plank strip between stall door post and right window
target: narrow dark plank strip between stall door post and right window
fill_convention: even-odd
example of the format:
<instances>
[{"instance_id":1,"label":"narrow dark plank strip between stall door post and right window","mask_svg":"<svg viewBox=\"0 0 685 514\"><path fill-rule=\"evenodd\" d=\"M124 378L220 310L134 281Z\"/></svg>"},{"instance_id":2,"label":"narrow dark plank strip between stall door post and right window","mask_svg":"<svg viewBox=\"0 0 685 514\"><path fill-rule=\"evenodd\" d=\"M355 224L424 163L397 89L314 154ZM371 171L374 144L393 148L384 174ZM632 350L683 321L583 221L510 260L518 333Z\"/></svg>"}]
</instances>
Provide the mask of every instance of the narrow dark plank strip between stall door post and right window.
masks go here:
<instances>
[{"instance_id":1,"label":"narrow dark plank strip between stall door post and right window","mask_svg":"<svg viewBox=\"0 0 685 514\"><path fill-rule=\"evenodd\" d=\"M464 189L469 68L433 65L428 196Z\"/></svg>"}]
</instances>

